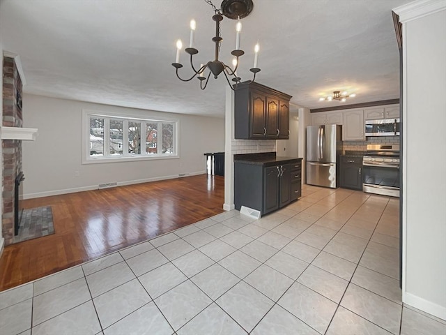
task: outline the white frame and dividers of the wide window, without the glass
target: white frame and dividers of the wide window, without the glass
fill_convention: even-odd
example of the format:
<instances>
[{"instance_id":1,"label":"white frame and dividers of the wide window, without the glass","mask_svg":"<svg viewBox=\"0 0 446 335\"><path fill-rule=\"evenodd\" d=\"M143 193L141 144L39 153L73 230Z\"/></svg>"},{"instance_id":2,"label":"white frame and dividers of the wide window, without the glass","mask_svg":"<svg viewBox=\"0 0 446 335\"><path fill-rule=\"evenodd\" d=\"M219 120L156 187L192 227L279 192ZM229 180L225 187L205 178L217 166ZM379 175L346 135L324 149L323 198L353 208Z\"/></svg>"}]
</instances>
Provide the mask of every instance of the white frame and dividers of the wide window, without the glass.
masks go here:
<instances>
[{"instance_id":1,"label":"white frame and dividers of the wide window, without the glass","mask_svg":"<svg viewBox=\"0 0 446 335\"><path fill-rule=\"evenodd\" d=\"M90 118L104 118L104 119L122 119L123 120L123 154L122 155L110 155L109 152L109 140L110 130L109 121L105 121L104 125L104 156L90 156ZM146 152L146 126L141 126L141 154L129 154L128 153L128 122L142 122L142 123L155 123L158 122L157 129L157 154L148 154ZM174 124L174 152L172 154L162 154L162 122L168 122ZM108 112L98 112L93 110L82 111L82 164L94 164L94 163L116 163L123 161L146 161L153 159L172 159L180 158L178 148L179 137L179 123L178 119L163 119L160 117L136 117L122 114L114 114Z\"/></svg>"}]
</instances>

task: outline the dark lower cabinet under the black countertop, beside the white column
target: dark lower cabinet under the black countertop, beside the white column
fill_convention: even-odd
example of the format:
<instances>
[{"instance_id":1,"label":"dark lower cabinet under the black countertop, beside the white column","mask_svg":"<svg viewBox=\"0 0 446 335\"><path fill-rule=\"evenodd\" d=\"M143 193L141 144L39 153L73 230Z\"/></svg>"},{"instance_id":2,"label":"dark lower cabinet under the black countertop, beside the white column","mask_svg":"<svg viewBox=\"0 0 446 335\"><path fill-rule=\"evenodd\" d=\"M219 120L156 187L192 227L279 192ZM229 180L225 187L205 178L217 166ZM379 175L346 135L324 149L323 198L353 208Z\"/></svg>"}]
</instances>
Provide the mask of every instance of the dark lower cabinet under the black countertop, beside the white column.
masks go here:
<instances>
[{"instance_id":1,"label":"dark lower cabinet under the black countertop, beside the white column","mask_svg":"<svg viewBox=\"0 0 446 335\"><path fill-rule=\"evenodd\" d=\"M263 166L234 163L234 203L268 214L298 200L301 194L301 160Z\"/></svg>"}]
</instances>

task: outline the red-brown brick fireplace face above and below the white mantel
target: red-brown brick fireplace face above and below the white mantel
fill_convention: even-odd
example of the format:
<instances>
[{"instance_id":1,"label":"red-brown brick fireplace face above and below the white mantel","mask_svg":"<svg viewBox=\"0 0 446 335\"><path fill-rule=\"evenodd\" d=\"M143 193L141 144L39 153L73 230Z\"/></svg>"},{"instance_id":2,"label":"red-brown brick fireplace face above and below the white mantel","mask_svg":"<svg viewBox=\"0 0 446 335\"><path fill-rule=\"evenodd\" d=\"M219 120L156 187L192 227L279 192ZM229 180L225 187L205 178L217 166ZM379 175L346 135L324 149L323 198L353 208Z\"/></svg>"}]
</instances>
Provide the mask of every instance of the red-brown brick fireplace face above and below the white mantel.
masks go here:
<instances>
[{"instance_id":1,"label":"red-brown brick fireplace face above and below the white mantel","mask_svg":"<svg viewBox=\"0 0 446 335\"><path fill-rule=\"evenodd\" d=\"M22 80L15 59L3 57L3 119L2 126L22 127ZM1 225L5 246L14 237L15 178L22 171L22 141L2 140L3 151L3 213Z\"/></svg>"}]
</instances>

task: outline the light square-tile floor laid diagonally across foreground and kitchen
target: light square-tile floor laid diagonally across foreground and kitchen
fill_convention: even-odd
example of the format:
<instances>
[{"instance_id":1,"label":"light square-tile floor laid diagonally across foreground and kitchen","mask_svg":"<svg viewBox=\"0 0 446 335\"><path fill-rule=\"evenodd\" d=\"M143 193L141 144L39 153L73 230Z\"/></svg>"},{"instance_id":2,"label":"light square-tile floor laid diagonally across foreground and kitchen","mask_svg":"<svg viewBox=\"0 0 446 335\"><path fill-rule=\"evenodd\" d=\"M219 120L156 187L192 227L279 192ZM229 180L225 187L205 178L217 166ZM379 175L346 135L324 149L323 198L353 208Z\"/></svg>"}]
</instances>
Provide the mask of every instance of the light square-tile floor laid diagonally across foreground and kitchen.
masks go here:
<instances>
[{"instance_id":1,"label":"light square-tile floor laid diagonally across foreground and kitchen","mask_svg":"<svg viewBox=\"0 0 446 335\"><path fill-rule=\"evenodd\" d=\"M446 334L401 303L399 200L304 186L0 293L0 334Z\"/></svg>"}]
</instances>

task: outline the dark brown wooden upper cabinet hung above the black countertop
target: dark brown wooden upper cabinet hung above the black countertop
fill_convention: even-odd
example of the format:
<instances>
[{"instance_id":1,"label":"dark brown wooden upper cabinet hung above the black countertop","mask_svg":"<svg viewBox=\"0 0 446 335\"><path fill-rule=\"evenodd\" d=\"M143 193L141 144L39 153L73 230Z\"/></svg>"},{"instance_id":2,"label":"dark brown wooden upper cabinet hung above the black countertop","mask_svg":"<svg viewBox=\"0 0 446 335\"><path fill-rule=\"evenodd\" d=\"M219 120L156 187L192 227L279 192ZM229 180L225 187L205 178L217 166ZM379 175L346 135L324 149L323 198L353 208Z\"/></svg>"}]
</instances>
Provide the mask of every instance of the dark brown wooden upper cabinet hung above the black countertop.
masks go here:
<instances>
[{"instance_id":1,"label":"dark brown wooden upper cabinet hung above the black countertop","mask_svg":"<svg viewBox=\"0 0 446 335\"><path fill-rule=\"evenodd\" d=\"M235 90L235 137L243 140L289 138L291 96L256 82Z\"/></svg>"}]
</instances>

